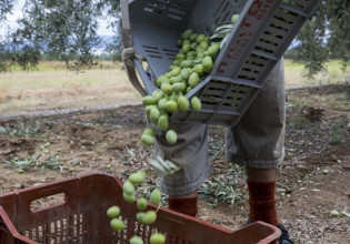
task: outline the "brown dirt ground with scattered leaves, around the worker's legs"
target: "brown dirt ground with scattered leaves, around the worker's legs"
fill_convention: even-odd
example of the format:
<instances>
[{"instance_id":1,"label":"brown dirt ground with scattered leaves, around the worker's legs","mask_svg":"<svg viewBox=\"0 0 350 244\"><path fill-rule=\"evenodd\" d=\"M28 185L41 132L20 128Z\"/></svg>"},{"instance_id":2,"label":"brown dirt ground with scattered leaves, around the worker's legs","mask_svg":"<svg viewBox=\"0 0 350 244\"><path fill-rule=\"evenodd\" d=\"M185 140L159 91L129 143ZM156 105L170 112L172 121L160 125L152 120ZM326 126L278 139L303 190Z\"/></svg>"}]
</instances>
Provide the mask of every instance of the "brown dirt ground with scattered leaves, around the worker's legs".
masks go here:
<instances>
[{"instance_id":1,"label":"brown dirt ground with scattered leaves, around the worker's legs","mask_svg":"<svg viewBox=\"0 0 350 244\"><path fill-rule=\"evenodd\" d=\"M286 160L277 171L280 221L296 243L349 243L350 217L330 211L350 207L350 88L298 89L287 99ZM124 180L148 167L153 149L140 143L144 126L142 105L0 118L0 194L90 172ZM199 217L237 230L248 217L246 180L240 166L226 162L223 134L211 126L213 172L200 190ZM156 184L157 174L149 175Z\"/></svg>"}]
</instances>

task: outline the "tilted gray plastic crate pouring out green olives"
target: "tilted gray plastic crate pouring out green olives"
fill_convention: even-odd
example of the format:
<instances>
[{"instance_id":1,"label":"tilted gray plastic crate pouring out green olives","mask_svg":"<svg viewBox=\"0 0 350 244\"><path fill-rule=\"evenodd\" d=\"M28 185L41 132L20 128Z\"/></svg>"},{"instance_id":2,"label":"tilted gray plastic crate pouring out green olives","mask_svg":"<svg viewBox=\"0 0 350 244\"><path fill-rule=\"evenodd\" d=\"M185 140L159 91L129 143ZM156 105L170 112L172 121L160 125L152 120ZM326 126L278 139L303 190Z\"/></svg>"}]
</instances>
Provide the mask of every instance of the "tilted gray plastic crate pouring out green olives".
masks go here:
<instances>
[{"instance_id":1,"label":"tilted gray plastic crate pouring out green olives","mask_svg":"<svg viewBox=\"0 0 350 244\"><path fill-rule=\"evenodd\" d=\"M202 110L171 116L172 122L234 125L318 2L130 0L123 11L128 11L136 52L147 62L149 72L137 59L134 68L147 92L152 93L157 89L154 79L168 72L179 51L177 40L186 29L211 34L213 26L240 13L211 73L187 94L189 99L199 96Z\"/></svg>"}]
</instances>

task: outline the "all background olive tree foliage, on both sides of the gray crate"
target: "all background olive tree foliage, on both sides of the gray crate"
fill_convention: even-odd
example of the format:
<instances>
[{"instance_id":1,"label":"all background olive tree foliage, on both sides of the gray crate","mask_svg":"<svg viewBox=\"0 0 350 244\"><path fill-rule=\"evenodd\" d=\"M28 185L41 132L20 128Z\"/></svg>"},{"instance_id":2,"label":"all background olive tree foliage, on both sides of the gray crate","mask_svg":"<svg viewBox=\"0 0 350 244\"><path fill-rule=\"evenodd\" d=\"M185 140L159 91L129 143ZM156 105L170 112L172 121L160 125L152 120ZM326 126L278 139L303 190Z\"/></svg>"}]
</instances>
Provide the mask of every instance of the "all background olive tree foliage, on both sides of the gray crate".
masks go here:
<instances>
[{"instance_id":1,"label":"all background olive tree foliage, on both sides of the gray crate","mask_svg":"<svg viewBox=\"0 0 350 244\"><path fill-rule=\"evenodd\" d=\"M18 0L0 1L0 24L6 22L14 1ZM0 72L12 65L36 67L43 54L66 62L68 68L96 64L93 51L102 41L97 33L99 19L108 21L116 33L106 51L120 60L118 0L26 0L19 29L0 37ZM329 59L342 60L346 71L349 34L350 0L321 0L296 39L293 57L304 63L309 78L324 70Z\"/></svg>"}]
</instances>

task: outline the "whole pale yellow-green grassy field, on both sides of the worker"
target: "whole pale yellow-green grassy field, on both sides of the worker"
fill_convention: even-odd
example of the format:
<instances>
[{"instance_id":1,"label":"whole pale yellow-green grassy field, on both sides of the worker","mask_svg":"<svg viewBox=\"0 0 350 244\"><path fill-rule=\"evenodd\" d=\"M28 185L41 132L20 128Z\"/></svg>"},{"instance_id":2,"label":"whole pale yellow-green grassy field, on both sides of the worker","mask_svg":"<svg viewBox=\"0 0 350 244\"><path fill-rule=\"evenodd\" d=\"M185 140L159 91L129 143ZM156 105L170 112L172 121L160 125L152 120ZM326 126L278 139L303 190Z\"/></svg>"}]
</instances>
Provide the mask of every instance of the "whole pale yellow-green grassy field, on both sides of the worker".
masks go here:
<instances>
[{"instance_id":1,"label":"whole pale yellow-green grassy field, on both sides of the worker","mask_svg":"<svg viewBox=\"0 0 350 244\"><path fill-rule=\"evenodd\" d=\"M288 87L310 83L338 83L344 79L338 61L327 63L328 72L316 80L302 77L301 63L284 61ZM348 74L349 75L349 74ZM129 104L140 96L130 84L121 64L102 62L82 72L68 71L63 63L42 62L37 70L19 68L0 74L0 112Z\"/></svg>"}]
</instances>

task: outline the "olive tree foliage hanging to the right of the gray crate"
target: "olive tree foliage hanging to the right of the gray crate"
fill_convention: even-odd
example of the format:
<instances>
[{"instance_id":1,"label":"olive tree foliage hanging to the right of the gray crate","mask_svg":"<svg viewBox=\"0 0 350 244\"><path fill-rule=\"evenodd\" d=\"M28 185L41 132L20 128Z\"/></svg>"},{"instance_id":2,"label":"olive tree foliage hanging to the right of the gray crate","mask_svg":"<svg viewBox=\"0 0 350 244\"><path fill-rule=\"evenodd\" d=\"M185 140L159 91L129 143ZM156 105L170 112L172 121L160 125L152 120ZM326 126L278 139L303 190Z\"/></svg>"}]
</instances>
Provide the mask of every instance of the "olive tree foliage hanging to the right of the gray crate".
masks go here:
<instances>
[{"instance_id":1,"label":"olive tree foliage hanging to the right of the gray crate","mask_svg":"<svg viewBox=\"0 0 350 244\"><path fill-rule=\"evenodd\" d=\"M350 59L350 1L323 0L297 37L296 59L312 78L324 70L324 62L338 59L347 77ZM348 78L349 79L349 78Z\"/></svg>"}]
</instances>

